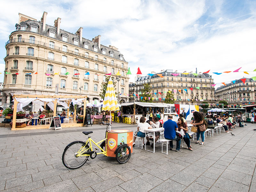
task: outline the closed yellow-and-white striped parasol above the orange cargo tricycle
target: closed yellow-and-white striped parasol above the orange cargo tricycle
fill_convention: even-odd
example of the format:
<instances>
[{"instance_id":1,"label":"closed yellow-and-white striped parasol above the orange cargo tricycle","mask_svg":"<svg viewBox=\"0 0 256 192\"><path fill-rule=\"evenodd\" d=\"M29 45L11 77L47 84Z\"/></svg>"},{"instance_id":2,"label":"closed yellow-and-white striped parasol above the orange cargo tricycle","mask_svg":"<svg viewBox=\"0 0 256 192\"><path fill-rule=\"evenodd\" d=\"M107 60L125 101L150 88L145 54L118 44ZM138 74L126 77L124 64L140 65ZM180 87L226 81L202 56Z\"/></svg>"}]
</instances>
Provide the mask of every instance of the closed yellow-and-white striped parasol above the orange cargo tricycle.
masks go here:
<instances>
[{"instance_id":1,"label":"closed yellow-and-white striped parasol above the orange cargo tricycle","mask_svg":"<svg viewBox=\"0 0 256 192\"><path fill-rule=\"evenodd\" d=\"M112 79L109 78L108 86L105 94L105 98L103 101L102 110L104 111L116 111L119 110L116 93L114 90Z\"/></svg>"}]
</instances>

